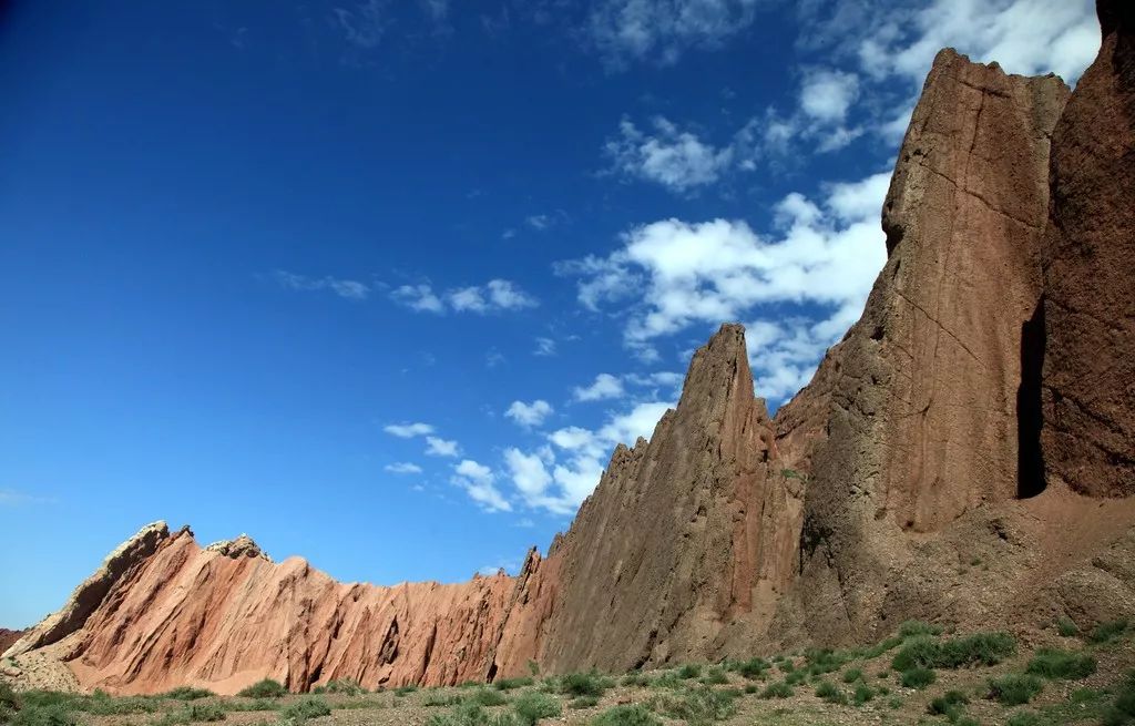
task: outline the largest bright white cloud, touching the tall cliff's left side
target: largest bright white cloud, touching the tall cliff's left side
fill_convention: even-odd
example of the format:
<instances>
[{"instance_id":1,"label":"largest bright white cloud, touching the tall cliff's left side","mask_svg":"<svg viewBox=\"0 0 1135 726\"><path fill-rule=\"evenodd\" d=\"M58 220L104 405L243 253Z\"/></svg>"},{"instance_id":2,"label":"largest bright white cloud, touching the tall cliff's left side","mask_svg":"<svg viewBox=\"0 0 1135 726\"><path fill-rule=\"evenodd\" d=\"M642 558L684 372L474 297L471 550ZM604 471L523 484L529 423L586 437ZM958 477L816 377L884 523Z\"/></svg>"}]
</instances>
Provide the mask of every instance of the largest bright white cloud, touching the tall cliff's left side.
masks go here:
<instances>
[{"instance_id":1,"label":"largest bright white cloud, touching the tall cliff's left side","mask_svg":"<svg viewBox=\"0 0 1135 726\"><path fill-rule=\"evenodd\" d=\"M878 217L888 178L827 185L819 204L785 196L776 208L775 236L723 219L634 228L606 258L569 265L581 275L580 302L621 305L631 349L653 349L655 339L695 323L771 321L777 335L766 343L783 355L765 358L750 345L759 362L758 392L772 399L794 392L858 316L885 261ZM609 279L639 280L636 296L628 299L629 288L608 286Z\"/></svg>"}]
</instances>

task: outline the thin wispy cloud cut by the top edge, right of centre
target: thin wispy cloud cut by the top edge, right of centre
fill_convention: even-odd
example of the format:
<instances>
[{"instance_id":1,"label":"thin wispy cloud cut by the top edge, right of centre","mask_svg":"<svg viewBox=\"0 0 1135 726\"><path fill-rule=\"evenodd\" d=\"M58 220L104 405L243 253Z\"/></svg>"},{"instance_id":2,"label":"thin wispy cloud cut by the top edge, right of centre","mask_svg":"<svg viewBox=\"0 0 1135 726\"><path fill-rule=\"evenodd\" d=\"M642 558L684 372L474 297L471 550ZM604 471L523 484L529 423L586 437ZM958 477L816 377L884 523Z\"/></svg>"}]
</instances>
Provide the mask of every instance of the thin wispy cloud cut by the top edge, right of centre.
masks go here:
<instances>
[{"instance_id":1,"label":"thin wispy cloud cut by the top edge, right of centre","mask_svg":"<svg viewBox=\"0 0 1135 726\"><path fill-rule=\"evenodd\" d=\"M757 0L599 0L586 33L608 64L669 65L689 48L715 48L747 28Z\"/></svg>"}]
</instances>

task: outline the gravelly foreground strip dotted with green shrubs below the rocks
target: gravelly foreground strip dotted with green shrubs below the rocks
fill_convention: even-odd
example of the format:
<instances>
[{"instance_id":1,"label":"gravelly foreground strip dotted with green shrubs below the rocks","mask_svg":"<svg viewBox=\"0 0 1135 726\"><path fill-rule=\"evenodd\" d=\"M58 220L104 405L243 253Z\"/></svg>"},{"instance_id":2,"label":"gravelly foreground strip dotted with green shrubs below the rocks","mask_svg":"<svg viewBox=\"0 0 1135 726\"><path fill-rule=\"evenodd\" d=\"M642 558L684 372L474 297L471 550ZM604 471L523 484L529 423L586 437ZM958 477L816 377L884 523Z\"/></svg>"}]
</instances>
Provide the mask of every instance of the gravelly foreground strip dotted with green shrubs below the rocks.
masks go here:
<instances>
[{"instance_id":1,"label":"gravelly foreground strip dotted with green shrubs below the rocks","mask_svg":"<svg viewBox=\"0 0 1135 726\"><path fill-rule=\"evenodd\" d=\"M1135 726L1135 626L1031 638L944 633L906 623L871 648L805 650L712 666L577 673L491 685L367 692L333 681L289 694L263 681L236 697L176 689L151 697L22 693L0 683L10 726ZM535 669L535 668L533 668Z\"/></svg>"}]
</instances>

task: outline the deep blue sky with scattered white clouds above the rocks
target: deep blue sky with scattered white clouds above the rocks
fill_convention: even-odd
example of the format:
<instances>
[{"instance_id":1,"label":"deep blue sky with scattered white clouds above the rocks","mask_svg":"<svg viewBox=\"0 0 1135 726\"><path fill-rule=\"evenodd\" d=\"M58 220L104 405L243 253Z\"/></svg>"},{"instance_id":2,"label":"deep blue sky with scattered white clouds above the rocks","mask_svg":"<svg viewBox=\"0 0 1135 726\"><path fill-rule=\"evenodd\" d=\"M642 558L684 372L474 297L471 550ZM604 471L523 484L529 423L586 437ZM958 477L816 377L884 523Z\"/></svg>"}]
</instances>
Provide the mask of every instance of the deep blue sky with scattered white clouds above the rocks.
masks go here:
<instances>
[{"instance_id":1,"label":"deep blue sky with scattered white clouds above the rocks","mask_svg":"<svg viewBox=\"0 0 1135 726\"><path fill-rule=\"evenodd\" d=\"M939 48L1099 45L1063 0L180 6L0 15L0 625L159 518L514 569L721 322L807 382Z\"/></svg>"}]
</instances>

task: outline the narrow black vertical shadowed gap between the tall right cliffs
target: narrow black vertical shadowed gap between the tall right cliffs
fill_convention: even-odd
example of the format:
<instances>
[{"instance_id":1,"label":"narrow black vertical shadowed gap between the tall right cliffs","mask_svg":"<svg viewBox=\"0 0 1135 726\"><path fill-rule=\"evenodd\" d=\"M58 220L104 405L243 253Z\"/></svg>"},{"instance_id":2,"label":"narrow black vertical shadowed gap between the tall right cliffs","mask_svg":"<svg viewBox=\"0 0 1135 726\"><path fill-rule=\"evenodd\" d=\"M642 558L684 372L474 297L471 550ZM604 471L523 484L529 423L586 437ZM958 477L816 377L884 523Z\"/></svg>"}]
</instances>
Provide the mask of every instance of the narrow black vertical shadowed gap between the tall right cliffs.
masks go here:
<instances>
[{"instance_id":1,"label":"narrow black vertical shadowed gap between the tall right cliffs","mask_svg":"<svg viewBox=\"0 0 1135 726\"><path fill-rule=\"evenodd\" d=\"M1041 373L1044 368L1044 297L1020 326L1020 386L1017 388L1017 498L1044 491L1041 453Z\"/></svg>"}]
</instances>

